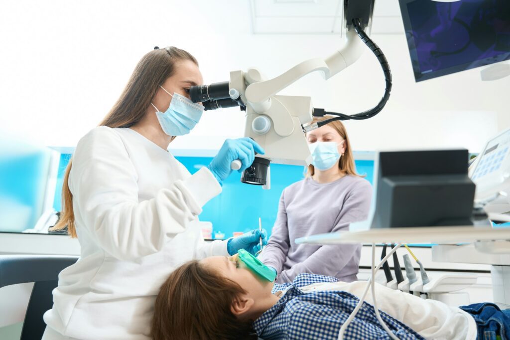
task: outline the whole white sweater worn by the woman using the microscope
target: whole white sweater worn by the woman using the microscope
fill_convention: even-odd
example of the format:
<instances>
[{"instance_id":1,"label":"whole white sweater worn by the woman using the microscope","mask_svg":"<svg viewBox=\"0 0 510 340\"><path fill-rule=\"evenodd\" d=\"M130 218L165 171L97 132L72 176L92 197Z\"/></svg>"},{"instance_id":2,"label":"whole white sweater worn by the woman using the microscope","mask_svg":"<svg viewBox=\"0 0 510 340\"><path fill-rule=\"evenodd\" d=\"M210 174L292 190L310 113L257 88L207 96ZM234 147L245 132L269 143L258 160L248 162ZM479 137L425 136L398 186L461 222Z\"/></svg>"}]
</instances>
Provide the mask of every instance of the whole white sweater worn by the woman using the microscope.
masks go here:
<instances>
[{"instance_id":1,"label":"whole white sweater worn by the woman using the microscope","mask_svg":"<svg viewBox=\"0 0 510 340\"><path fill-rule=\"evenodd\" d=\"M197 215L221 192L131 129L97 127L74 152L69 176L81 245L44 314L43 340L149 339L161 284L183 262L227 255L206 244ZM62 334L60 337L59 334Z\"/></svg>"}]
</instances>

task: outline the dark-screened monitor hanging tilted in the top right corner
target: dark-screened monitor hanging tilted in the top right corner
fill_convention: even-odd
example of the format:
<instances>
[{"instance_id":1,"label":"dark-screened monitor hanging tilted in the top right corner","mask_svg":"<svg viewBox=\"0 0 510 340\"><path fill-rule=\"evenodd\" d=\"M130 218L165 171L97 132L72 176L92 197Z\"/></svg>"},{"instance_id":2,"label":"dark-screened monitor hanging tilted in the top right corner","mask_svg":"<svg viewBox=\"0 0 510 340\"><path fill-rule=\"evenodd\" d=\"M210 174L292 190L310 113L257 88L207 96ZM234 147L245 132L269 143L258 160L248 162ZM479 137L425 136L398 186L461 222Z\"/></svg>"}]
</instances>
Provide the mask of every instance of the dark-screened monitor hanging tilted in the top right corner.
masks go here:
<instances>
[{"instance_id":1,"label":"dark-screened monitor hanging tilted in the top right corner","mask_svg":"<svg viewBox=\"0 0 510 340\"><path fill-rule=\"evenodd\" d=\"M510 0L399 0L417 82L510 59Z\"/></svg>"}]
</instances>

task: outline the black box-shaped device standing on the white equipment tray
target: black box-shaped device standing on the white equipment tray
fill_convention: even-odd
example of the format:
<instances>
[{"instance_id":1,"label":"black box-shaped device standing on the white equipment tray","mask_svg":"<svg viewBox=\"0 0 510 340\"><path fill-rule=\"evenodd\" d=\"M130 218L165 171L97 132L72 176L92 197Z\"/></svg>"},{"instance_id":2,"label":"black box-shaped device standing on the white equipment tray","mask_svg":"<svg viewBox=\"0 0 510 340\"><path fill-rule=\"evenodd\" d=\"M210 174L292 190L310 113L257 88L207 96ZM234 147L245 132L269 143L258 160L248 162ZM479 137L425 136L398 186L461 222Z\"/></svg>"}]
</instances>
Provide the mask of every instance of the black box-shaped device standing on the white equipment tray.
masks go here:
<instances>
[{"instance_id":1,"label":"black box-shaped device standing on the white equipment tray","mask_svg":"<svg viewBox=\"0 0 510 340\"><path fill-rule=\"evenodd\" d=\"M468 157L467 150L379 152L371 228L472 225Z\"/></svg>"}]
</instances>

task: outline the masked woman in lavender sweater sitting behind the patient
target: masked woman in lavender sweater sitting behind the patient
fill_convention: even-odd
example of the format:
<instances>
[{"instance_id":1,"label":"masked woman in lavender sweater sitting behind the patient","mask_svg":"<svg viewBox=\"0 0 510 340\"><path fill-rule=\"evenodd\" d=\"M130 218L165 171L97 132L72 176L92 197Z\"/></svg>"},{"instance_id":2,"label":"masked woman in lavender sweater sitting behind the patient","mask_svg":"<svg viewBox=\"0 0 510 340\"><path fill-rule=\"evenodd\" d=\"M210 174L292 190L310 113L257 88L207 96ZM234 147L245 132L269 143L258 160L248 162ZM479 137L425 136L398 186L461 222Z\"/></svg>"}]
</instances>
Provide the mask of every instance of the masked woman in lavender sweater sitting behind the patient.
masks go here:
<instances>
[{"instance_id":1,"label":"masked woman in lavender sweater sitting behind the patient","mask_svg":"<svg viewBox=\"0 0 510 340\"><path fill-rule=\"evenodd\" d=\"M326 118L315 118L320 122ZM372 187L355 172L347 131L340 121L307 133L312 165L307 178L282 192L271 238L259 259L272 267L276 282L300 273L357 279L361 245L296 245L298 237L348 230L366 220Z\"/></svg>"}]
</instances>

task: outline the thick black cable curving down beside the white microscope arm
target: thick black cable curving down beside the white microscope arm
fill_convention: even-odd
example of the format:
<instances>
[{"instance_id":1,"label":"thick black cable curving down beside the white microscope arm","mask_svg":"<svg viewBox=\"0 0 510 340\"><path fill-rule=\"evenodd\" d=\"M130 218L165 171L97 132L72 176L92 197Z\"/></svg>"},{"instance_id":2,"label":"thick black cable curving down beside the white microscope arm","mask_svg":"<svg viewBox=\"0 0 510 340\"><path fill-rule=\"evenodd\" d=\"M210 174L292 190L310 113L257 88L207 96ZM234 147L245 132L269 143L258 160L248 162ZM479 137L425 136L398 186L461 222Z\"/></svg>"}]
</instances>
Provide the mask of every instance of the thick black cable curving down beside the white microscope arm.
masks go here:
<instances>
[{"instance_id":1,"label":"thick black cable curving down beside the white microscope arm","mask_svg":"<svg viewBox=\"0 0 510 340\"><path fill-rule=\"evenodd\" d=\"M358 36L361 38L361 40L363 40L363 42L374 53L375 57L377 58L377 60L379 61L380 65L382 67L382 71L384 72L385 82L386 82L385 92L384 92L384 95L382 96L381 100L375 107L371 108L370 110L352 114L352 115L348 115L345 113L338 113L338 112L328 112L328 111L325 111L324 109L315 109L314 108L313 115L315 117L322 117L324 115L338 116L335 118L329 118L326 120L322 120L322 122L317 122L318 128L320 128L321 126L324 126L328 123L335 122L335 120L371 118L371 117L375 116L377 113L379 113L382 110L382 108L385 107L386 103L390 99L390 92L391 92L391 87L392 87L392 77L391 77L391 70L390 70L390 65L388 64L388 60L386 59L384 53L382 53L379 46L377 46L375 44L375 42L373 42L368 37L368 35L365 33L365 31L363 31L360 19L352 19L352 25L354 26L354 30L356 31L356 33L358 33Z\"/></svg>"}]
</instances>

